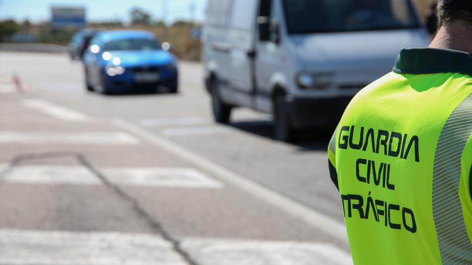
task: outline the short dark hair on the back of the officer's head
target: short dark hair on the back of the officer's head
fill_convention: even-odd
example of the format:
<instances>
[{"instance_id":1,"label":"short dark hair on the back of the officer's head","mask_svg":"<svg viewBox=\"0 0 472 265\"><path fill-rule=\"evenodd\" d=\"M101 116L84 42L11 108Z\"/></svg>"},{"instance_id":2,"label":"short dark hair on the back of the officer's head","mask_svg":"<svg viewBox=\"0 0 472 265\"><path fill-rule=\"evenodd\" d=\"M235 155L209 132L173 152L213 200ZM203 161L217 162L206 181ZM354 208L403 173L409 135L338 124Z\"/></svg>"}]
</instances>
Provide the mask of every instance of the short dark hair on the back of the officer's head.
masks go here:
<instances>
[{"instance_id":1,"label":"short dark hair on the back of the officer's head","mask_svg":"<svg viewBox=\"0 0 472 265\"><path fill-rule=\"evenodd\" d=\"M439 0L438 26L462 20L472 24L472 0Z\"/></svg>"}]
</instances>

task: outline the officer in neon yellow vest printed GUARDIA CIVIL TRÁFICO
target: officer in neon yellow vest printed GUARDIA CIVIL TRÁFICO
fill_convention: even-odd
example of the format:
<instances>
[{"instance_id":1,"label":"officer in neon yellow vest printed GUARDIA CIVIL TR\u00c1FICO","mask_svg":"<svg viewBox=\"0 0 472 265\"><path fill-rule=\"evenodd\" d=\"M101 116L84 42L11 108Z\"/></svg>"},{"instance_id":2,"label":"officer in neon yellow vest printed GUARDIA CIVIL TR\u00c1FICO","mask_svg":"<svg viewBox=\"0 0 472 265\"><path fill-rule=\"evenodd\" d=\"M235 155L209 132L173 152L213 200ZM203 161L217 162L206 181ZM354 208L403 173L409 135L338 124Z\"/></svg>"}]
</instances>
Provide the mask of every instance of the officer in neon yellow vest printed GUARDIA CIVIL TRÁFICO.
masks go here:
<instances>
[{"instance_id":1,"label":"officer in neon yellow vest printed GUARDIA CIVIL TR\u00c1FICO","mask_svg":"<svg viewBox=\"0 0 472 265\"><path fill-rule=\"evenodd\" d=\"M329 143L356 265L472 264L472 0L348 105Z\"/></svg>"}]
</instances>

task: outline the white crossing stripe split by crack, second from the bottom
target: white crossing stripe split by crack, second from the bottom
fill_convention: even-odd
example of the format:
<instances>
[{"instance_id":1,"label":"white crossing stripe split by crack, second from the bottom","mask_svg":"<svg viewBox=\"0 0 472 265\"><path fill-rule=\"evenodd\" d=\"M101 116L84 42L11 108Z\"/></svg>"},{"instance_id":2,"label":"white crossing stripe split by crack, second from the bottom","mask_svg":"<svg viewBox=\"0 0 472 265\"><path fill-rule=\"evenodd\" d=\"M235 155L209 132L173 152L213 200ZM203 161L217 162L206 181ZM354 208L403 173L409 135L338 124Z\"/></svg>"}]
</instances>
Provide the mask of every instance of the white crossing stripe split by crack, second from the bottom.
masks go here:
<instances>
[{"instance_id":1,"label":"white crossing stripe split by crack, second from the bottom","mask_svg":"<svg viewBox=\"0 0 472 265\"><path fill-rule=\"evenodd\" d=\"M4 165L0 164L0 168ZM104 168L111 183L124 186L219 189L223 184L191 168ZM3 178L9 183L101 185L83 166L21 165Z\"/></svg>"}]
</instances>

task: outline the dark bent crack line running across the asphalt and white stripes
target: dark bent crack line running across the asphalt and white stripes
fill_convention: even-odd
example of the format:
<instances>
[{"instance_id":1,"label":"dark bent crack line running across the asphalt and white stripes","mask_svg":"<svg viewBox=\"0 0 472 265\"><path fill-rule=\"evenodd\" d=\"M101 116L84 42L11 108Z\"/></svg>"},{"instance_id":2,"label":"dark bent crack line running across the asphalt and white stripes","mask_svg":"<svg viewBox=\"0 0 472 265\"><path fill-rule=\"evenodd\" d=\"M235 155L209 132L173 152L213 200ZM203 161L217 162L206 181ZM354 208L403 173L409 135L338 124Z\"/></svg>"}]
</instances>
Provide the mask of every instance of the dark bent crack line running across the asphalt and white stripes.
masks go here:
<instances>
[{"instance_id":1,"label":"dark bent crack line running across the asphalt and white stripes","mask_svg":"<svg viewBox=\"0 0 472 265\"><path fill-rule=\"evenodd\" d=\"M138 214L139 217L143 218L148 225L151 227L153 231L160 234L162 238L172 244L172 249L179 253L179 255L187 262L189 265L199 265L195 260L193 260L187 251L185 251L180 241L173 237L163 225L155 220L141 205L140 203L130 195L128 195L123 189L121 189L118 185L113 184L108 180L105 174L103 174L100 170L98 170L89 160L86 158L85 155L76 152L47 152L47 153L27 153L27 154L20 154L15 156L8 166L0 171L0 185L2 185L4 181L4 177L11 172L16 166L21 164L23 161L27 160L35 160L35 159L44 159L44 158L61 158L61 157L74 157L76 158L79 163L86 167L91 173L93 173L100 181L103 183L104 186L111 189L117 196L121 199L127 201L131 204L135 213Z\"/></svg>"}]
</instances>

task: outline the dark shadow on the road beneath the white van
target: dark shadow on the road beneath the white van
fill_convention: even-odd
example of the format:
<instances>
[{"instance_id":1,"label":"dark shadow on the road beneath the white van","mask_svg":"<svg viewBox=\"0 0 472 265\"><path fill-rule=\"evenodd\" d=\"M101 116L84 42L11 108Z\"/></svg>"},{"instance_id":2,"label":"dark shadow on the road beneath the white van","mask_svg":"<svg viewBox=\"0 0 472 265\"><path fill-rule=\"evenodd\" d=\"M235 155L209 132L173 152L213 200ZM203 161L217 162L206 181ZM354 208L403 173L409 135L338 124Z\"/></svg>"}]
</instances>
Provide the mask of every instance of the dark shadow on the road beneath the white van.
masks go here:
<instances>
[{"instance_id":1,"label":"dark shadow on the road beneath the white van","mask_svg":"<svg viewBox=\"0 0 472 265\"><path fill-rule=\"evenodd\" d=\"M228 126L274 140L273 121L232 122ZM326 151L334 129L335 127L303 130L298 132L296 139L289 144L295 146L300 152Z\"/></svg>"}]
</instances>

